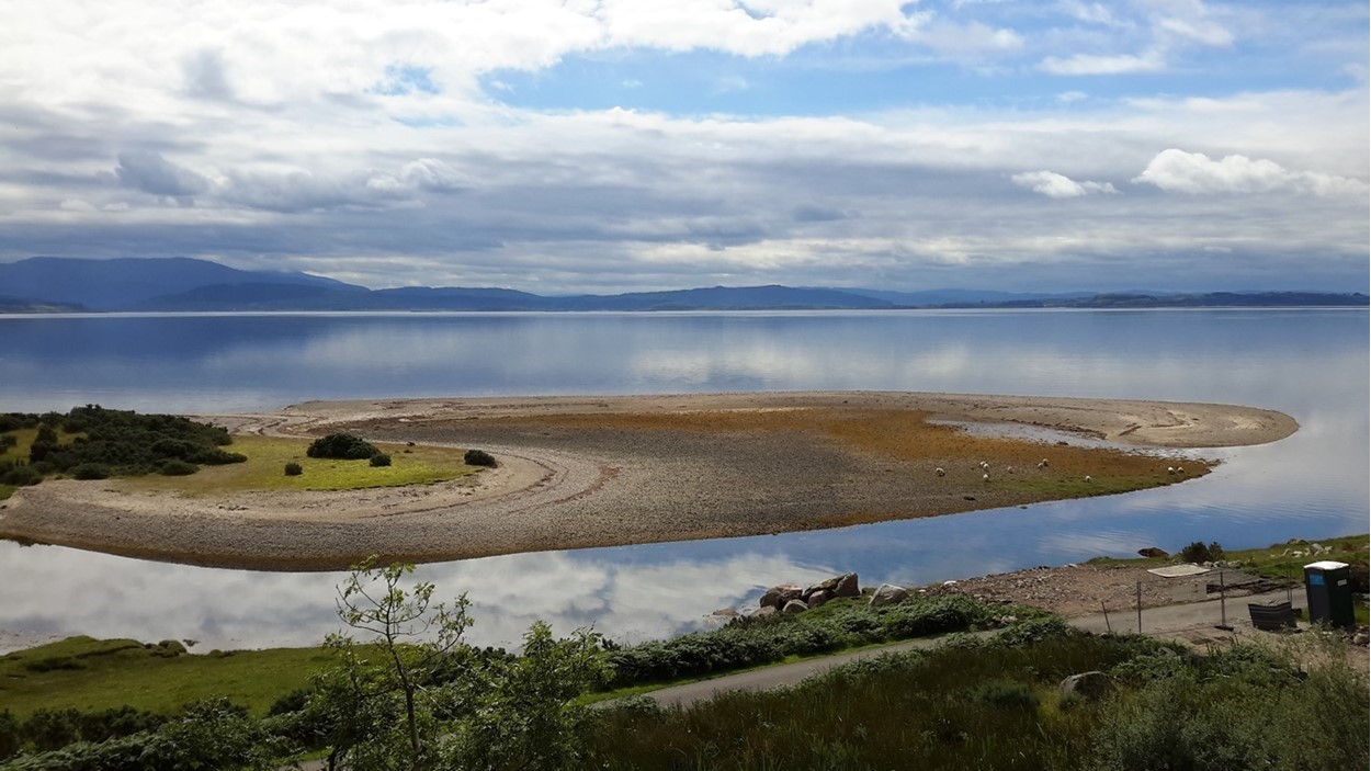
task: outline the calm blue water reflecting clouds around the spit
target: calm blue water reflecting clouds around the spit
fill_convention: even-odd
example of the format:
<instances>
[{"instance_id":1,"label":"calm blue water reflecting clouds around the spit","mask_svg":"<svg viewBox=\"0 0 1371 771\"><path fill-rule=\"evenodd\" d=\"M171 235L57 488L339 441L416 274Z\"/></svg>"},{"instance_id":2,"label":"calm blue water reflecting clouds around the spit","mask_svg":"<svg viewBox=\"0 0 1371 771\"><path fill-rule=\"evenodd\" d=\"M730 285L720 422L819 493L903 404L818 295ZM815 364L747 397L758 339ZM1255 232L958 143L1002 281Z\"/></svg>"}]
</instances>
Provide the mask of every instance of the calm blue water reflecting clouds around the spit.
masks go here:
<instances>
[{"instance_id":1,"label":"calm blue water reflecting clouds around the spit","mask_svg":"<svg viewBox=\"0 0 1371 771\"><path fill-rule=\"evenodd\" d=\"M1253 405L1301 429L1161 490L777 536L425 565L478 643L535 619L635 641L764 586L931 582L1191 541L1368 528L1366 310L0 317L0 410L232 412L306 399L906 390ZM0 510L3 514L3 510ZM0 543L0 630L207 648L306 645L339 573L265 573Z\"/></svg>"}]
</instances>

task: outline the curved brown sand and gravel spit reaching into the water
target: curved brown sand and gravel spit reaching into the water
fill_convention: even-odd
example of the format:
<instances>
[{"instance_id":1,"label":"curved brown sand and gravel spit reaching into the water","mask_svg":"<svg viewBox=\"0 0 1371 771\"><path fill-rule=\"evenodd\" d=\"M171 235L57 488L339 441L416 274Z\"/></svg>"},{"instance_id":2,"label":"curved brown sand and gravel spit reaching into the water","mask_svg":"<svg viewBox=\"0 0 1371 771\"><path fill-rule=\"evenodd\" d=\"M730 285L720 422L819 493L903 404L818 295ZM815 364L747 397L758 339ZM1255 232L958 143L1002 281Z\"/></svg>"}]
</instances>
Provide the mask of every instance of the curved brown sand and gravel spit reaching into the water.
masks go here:
<instances>
[{"instance_id":1,"label":"curved brown sand and gravel spit reaching into the water","mask_svg":"<svg viewBox=\"0 0 1371 771\"><path fill-rule=\"evenodd\" d=\"M380 399L200 417L239 434L347 429L476 446L500 466L444 484L217 499L55 480L0 502L0 536L311 571L372 553L439 561L758 535L1042 501L1060 495L1026 480L1093 469L1169 483L1168 450L1260 444L1297 429L1286 414L1227 405L908 392ZM927 418L1027 424L1153 454L973 440ZM1039 457L1050 466L1036 468Z\"/></svg>"}]
</instances>

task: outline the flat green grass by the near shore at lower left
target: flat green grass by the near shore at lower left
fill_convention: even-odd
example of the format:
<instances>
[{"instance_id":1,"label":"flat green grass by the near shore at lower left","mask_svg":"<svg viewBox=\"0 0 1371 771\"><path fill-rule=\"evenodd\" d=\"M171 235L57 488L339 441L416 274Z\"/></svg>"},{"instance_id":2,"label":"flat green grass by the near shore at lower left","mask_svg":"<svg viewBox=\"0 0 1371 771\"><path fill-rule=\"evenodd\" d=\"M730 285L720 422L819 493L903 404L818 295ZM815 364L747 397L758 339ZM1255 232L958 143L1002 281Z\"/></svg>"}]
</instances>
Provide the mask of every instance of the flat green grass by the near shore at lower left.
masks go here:
<instances>
[{"instance_id":1,"label":"flat green grass by the near shore at lower left","mask_svg":"<svg viewBox=\"0 0 1371 771\"><path fill-rule=\"evenodd\" d=\"M186 702L226 696L265 715L332 659L322 648L175 657L158 650L133 639L73 637L0 656L0 704L21 719L44 707L100 711L126 704L170 715Z\"/></svg>"}]
</instances>

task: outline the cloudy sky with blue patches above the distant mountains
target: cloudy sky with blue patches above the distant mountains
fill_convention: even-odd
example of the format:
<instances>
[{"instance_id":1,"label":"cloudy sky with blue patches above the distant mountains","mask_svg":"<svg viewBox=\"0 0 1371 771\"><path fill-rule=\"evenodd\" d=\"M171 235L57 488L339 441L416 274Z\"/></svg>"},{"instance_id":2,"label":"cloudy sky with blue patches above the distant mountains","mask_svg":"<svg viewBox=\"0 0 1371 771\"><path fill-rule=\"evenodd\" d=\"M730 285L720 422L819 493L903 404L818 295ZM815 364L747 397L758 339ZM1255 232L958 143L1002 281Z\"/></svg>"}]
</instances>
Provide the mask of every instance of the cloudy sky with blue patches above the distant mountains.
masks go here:
<instances>
[{"instance_id":1,"label":"cloudy sky with blue patches above the distant mountains","mask_svg":"<svg viewBox=\"0 0 1371 771\"><path fill-rule=\"evenodd\" d=\"M0 19L0 261L539 294L1368 287L1363 0Z\"/></svg>"}]
</instances>

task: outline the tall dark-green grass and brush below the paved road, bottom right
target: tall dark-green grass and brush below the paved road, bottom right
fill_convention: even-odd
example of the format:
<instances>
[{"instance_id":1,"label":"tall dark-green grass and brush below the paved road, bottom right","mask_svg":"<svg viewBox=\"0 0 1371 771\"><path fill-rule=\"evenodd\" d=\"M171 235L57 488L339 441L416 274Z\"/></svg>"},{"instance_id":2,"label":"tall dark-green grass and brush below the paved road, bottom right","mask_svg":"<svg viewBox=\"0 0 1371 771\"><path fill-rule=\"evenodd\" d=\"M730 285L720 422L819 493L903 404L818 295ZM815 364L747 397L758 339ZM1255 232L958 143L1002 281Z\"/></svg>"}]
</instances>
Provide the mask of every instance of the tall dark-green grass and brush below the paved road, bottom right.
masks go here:
<instances>
[{"instance_id":1,"label":"tall dark-green grass and brush below the paved road, bottom right","mask_svg":"<svg viewBox=\"0 0 1371 771\"><path fill-rule=\"evenodd\" d=\"M611 770L1366 768L1366 678L1238 649L1211 659L1143 638L1034 635L829 671L788 690L602 715ZM1019 638L1026 639L1026 638ZM1102 701L1063 696L1111 672ZM1323 760L1316 760L1323 759Z\"/></svg>"}]
</instances>

